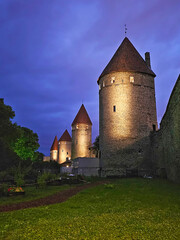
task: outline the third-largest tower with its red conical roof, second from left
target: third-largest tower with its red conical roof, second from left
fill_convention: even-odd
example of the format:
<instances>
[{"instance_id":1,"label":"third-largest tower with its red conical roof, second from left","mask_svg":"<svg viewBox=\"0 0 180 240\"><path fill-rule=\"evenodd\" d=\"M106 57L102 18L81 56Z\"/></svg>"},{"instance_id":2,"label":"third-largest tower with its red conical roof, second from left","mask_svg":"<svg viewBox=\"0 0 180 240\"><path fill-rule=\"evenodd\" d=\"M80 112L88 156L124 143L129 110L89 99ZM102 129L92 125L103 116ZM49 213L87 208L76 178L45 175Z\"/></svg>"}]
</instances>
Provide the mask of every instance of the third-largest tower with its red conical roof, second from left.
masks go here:
<instances>
[{"instance_id":1,"label":"third-largest tower with its red conical roof, second from left","mask_svg":"<svg viewBox=\"0 0 180 240\"><path fill-rule=\"evenodd\" d=\"M67 129L59 139L59 164L71 159L71 136Z\"/></svg>"}]
</instances>

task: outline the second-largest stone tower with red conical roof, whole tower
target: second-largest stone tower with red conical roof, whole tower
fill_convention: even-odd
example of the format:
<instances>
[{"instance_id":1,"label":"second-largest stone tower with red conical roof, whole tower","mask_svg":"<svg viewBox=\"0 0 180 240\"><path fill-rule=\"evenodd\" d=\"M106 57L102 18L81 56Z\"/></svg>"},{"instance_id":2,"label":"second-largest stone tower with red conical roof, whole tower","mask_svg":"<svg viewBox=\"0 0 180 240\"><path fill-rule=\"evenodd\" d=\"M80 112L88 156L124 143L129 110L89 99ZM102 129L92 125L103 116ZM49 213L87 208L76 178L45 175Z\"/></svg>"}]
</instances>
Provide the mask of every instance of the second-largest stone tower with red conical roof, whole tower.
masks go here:
<instances>
[{"instance_id":1,"label":"second-largest stone tower with red conical roof, whole tower","mask_svg":"<svg viewBox=\"0 0 180 240\"><path fill-rule=\"evenodd\" d=\"M90 157L92 122L82 104L72 123L72 159Z\"/></svg>"}]
</instances>

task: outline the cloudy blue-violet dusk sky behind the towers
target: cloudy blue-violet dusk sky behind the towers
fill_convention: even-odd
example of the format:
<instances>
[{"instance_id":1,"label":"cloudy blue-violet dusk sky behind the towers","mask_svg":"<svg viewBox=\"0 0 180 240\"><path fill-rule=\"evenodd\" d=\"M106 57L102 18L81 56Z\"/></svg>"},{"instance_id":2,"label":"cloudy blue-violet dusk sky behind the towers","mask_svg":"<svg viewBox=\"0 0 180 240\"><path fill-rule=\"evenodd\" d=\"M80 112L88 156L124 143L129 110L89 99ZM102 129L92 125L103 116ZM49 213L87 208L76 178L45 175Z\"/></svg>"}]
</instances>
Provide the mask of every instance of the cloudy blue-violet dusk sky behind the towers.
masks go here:
<instances>
[{"instance_id":1,"label":"cloudy blue-violet dusk sky behind the towers","mask_svg":"<svg viewBox=\"0 0 180 240\"><path fill-rule=\"evenodd\" d=\"M49 155L82 102L99 129L97 79L125 37L156 74L158 123L180 74L179 0L0 0L0 98Z\"/></svg>"}]
</instances>

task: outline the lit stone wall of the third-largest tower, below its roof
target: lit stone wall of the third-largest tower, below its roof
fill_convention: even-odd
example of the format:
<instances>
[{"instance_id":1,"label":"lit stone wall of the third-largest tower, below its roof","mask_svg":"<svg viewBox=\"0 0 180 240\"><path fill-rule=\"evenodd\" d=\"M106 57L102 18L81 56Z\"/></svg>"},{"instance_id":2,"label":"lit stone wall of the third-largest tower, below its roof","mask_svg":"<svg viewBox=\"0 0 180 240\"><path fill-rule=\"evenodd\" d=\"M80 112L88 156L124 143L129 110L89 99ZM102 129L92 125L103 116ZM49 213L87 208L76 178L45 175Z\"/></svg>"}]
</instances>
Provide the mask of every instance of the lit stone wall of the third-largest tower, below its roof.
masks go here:
<instances>
[{"instance_id":1,"label":"lit stone wall of the third-largest tower, below its roof","mask_svg":"<svg viewBox=\"0 0 180 240\"><path fill-rule=\"evenodd\" d=\"M60 141L59 142L59 156L58 163L61 164L66 160L71 159L71 142Z\"/></svg>"}]
</instances>

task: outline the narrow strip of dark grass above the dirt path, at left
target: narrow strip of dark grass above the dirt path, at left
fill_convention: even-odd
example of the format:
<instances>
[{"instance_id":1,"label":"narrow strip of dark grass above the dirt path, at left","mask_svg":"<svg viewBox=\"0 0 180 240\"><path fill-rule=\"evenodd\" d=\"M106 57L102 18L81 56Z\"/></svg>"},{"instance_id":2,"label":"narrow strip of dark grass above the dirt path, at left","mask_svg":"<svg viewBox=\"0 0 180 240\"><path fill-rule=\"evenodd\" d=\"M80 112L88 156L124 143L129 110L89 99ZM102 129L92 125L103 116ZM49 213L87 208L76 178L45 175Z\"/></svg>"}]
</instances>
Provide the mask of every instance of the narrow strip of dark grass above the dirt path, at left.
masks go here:
<instances>
[{"instance_id":1,"label":"narrow strip of dark grass above the dirt path, at left","mask_svg":"<svg viewBox=\"0 0 180 240\"><path fill-rule=\"evenodd\" d=\"M38 198L43 198L52 195L56 192L60 192L69 188L69 185L63 186L46 186L45 188L35 188L35 187L23 187L25 195L12 196L12 197L0 197L0 205L13 204L18 202L30 201Z\"/></svg>"}]
</instances>

